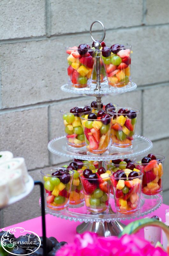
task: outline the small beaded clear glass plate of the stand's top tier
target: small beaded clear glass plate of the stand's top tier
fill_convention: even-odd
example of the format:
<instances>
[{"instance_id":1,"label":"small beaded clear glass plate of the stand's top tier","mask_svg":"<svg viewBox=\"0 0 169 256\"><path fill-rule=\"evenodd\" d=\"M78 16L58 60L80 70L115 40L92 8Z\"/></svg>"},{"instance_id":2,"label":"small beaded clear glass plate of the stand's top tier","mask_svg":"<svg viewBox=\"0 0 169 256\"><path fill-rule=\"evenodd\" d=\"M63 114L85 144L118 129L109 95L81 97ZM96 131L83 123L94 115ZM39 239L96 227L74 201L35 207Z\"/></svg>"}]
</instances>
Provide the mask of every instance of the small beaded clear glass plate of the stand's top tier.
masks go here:
<instances>
[{"instance_id":1,"label":"small beaded clear glass plate of the stand's top tier","mask_svg":"<svg viewBox=\"0 0 169 256\"><path fill-rule=\"evenodd\" d=\"M102 90L101 91L94 91L94 89L96 88L96 85L91 85L91 88L83 88L83 89L76 89L74 87L70 87L70 84L64 84L61 86L61 90L63 92L69 92L69 93L74 93L74 94L78 94L78 95L83 95L83 96L106 96L106 95L118 95L124 92L130 92L133 91L137 88L137 85L133 82L131 82L130 86L126 85L125 87L121 87L121 88L116 88L116 87L112 87L111 89L109 89L107 82L104 82L101 84L102 86Z\"/></svg>"}]
</instances>

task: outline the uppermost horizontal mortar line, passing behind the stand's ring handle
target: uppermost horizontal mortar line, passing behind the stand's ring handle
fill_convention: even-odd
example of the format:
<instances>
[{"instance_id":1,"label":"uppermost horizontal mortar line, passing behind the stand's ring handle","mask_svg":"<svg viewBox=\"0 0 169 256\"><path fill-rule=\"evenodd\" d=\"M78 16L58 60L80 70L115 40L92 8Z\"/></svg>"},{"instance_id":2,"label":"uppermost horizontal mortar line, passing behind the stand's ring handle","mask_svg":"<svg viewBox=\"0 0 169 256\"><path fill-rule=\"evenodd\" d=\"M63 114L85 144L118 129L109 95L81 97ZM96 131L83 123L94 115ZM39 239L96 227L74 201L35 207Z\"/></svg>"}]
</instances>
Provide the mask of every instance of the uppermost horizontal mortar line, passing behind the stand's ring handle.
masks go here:
<instances>
[{"instance_id":1,"label":"uppermost horizontal mortar line, passing behind the stand's ring handle","mask_svg":"<svg viewBox=\"0 0 169 256\"><path fill-rule=\"evenodd\" d=\"M120 28L107 28L106 31L116 31L116 30L127 30L127 29L135 29L135 28L152 28L152 27L161 27L169 25L168 23L163 24L152 24L152 25L137 25L131 27L120 27ZM93 31L93 34L102 33L101 30ZM48 36L33 36L33 37L22 37L22 38L11 38L11 39L3 39L0 40L0 44L12 44L12 43L21 43L21 42L29 42L29 41L40 41L40 40L47 40L47 39L58 39L60 37L68 37L68 36L75 36L75 35L89 35L89 31L81 31L81 32L73 32L73 33L64 33L64 34L54 34L50 37Z\"/></svg>"}]
</instances>

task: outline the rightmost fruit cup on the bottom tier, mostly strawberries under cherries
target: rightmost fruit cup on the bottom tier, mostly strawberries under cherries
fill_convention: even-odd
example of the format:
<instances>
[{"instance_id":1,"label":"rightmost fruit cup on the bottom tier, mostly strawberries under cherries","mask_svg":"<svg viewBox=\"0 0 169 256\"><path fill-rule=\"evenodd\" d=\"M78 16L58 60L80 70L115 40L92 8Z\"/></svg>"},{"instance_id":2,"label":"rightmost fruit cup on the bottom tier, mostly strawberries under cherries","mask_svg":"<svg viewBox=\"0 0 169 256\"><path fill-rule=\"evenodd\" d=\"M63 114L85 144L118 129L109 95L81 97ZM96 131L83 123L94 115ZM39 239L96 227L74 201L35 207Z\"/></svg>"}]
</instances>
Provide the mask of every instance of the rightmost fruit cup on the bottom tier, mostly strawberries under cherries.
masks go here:
<instances>
[{"instance_id":1,"label":"rightmost fruit cup on the bottom tier, mostly strawberries under cherries","mask_svg":"<svg viewBox=\"0 0 169 256\"><path fill-rule=\"evenodd\" d=\"M143 172L142 193L156 195L163 190L164 156L148 154L133 159L136 168Z\"/></svg>"}]
</instances>

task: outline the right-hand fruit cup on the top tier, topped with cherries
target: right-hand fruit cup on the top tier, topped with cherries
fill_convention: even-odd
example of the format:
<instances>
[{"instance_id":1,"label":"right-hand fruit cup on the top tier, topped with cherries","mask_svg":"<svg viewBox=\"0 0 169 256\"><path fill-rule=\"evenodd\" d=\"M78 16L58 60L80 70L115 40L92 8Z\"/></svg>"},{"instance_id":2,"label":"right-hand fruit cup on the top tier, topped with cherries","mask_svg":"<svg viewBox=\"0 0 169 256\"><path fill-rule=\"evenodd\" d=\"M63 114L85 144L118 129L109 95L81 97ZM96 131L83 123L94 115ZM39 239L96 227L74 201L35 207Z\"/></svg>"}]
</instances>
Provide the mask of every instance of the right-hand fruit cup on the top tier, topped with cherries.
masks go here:
<instances>
[{"instance_id":1,"label":"right-hand fruit cup on the top tier, topped with cherries","mask_svg":"<svg viewBox=\"0 0 169 256\"><path fill-rule=\"evenodd\" d=\"M101 50L109 86L123 87L130 84L131 46L113 44Z\"/></svg>"}]
</instances>

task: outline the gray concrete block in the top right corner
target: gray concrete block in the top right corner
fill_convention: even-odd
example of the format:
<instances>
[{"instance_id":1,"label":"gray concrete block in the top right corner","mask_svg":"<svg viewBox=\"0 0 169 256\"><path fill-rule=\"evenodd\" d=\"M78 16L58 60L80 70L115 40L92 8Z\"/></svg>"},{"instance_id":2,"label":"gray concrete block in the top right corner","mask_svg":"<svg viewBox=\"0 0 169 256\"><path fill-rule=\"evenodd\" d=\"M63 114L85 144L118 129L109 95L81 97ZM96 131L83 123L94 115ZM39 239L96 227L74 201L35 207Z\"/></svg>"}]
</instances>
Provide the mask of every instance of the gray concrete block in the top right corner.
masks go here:
<instances>
[{"instance_id":1,"label":"gray concrete block in the top right corner","mask_svg":"<svg viewBox=\"0 0 169 256\"><path fill-rule=\"evenodd\" d=\"M146 25L169 23L169 2L168 0L147 0L146 1Z\"/></svg>"}]
</instances>

